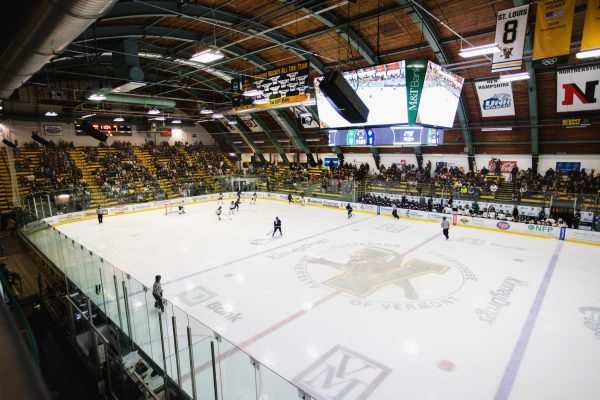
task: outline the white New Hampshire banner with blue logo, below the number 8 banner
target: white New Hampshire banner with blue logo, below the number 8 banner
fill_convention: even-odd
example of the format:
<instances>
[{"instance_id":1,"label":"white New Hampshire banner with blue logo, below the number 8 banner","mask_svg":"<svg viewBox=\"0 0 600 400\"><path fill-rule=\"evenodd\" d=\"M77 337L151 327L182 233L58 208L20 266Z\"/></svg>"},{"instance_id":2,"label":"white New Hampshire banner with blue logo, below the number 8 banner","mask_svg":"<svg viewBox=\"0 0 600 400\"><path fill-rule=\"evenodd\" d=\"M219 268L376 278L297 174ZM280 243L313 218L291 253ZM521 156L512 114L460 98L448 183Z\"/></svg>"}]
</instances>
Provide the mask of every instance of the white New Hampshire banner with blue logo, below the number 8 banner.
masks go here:
<instances>
[{"instance_id":1,"label":"white New Hampshire banner with blue logo, below the number 8 banner","mask_svg":"<svg viewBox=\"0 0 600 400\"><path fill-rule=\"evenodd\" d=\"M519 61L520 63L521 61ZM510 82L498 82L498 79L475 82L481 116L501 117L515 115L514 98Z\"/></svg>"}]
</instances>

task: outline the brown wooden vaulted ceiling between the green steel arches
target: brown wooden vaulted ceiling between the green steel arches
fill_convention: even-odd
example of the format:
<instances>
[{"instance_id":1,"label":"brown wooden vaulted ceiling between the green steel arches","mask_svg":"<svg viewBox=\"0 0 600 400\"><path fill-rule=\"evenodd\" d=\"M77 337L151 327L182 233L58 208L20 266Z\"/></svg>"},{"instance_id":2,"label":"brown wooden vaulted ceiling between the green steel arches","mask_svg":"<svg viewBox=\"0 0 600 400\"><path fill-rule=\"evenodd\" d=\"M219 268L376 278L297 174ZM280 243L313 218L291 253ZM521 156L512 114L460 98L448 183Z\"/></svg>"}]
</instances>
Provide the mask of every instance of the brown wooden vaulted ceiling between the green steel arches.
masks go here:
<instances>
[{"instance_id":1,"label":"brown wooden vaulted ceiling between the green steel arches","mask_svg":"<svg viewBox=\"0 0 600 400\"><path fill-rule=\"evenodd\" d=\"M317 76L330 69L349 70L402 59L428 59L441 63L423 33L423 24L415 22L414 13L419 11L426 23L433 27L439 45L447 55L447 62L441 64L466 80L462 101L475 152L531 153L528 82L513 83L514 117L483 118L474 81L497 74L491 72L491 62L484 57L459 57L462 41L456 35L458 33L473 45L492 43L497 12L514 7L519 2L418 0L417 3L422 7L421 10L408 0L121 1L84 33L85 40L79 38L70 49L81 51L85 44L86 52L110 51L121 39L134 36L140 52L158 52L167 58L145 59L142 66L147 75L154 74L164 79L171 77L175 88L169 91L169 95L187 96L190 101L225 103L229 82L216 76L211 69L230 76L252 75L272 66L308 59L313 74ZM574 53L581 40L585 5L585 0L576 2L570 64L578 63ZM535 12L536 5L532 2L528 31L534 29ZM129 34L133 28L139 29L139 33ZM206 69L173 61L208 47L222 49L227 57ZM531 53L526 51L525 56L530 57ZM598 146L586 147L577 142L600 139L598 125L571 130L558 126L560 119L569 115L556 112L555 71L556 67L536 71L540 152L555 152L557 149L567 153L597 152ZM207 90L200 92L204 95L194 93L192 96L184 88L177 88L177 85ZM156 95L156 88L154 90L153 94ZM143 94L144 89L139 93ZM184 108L192 110L190 112L194 109L193 105ZM282 127L268 113L260 115L276 138L287 138ZM289 115L293 118L293 115ZM577 113L577 116L595 115ZM493 123L515 128L511 132L481 132L482 125ZM207 124L206 127L216 131L212 125ZM296 129L305 137L311 135L299 125ZM447 144L436 148L435 153L462 153L465 146L463 130L457 117L454 127L446 132ZM326 144L323 134L313 132L312 135L322 137L323 142L311 141L308 143L310 147ZM263 151L275 150L272 142L258 136L265 142ZM564 143L556 147L557 141Z\"/></svg>"}]
</instances>

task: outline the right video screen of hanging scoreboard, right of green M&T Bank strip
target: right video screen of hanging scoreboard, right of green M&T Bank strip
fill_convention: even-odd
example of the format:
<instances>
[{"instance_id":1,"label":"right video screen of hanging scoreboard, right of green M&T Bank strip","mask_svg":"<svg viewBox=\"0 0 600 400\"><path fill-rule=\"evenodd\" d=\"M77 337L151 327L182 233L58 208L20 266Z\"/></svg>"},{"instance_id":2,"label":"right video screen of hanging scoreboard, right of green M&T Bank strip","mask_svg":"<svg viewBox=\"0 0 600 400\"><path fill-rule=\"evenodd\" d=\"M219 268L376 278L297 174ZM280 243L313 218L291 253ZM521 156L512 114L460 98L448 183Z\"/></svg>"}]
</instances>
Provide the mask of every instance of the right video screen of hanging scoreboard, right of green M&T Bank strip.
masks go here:
<instances>
[{"instance_id":1,"label":"right video screen of hanging scoreboard, right of green M&T Bank strip","mask_svg":"<svg viewBox=\"0 0 600 400\"><path fill-rule=\"evenodd\" d=\"M428 62L416 123L451 128L463 82L464 78Z\"/></svg>"}]
</instances>

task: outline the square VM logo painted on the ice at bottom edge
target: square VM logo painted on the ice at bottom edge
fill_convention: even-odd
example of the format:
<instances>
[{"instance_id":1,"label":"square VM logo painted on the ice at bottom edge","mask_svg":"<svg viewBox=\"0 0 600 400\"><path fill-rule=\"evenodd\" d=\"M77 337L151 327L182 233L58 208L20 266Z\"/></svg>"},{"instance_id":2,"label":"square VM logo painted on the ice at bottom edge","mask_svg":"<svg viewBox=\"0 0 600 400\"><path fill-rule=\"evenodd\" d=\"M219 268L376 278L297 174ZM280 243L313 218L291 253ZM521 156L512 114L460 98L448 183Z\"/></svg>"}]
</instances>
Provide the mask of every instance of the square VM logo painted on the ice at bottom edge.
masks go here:
<instances>
[{"instance_id":1,"label":"square VM logo painted on the ice at bottom edge","mask_svg":"<svg viewBox=\"0 0 600 400\"><path fill-rule=\"evenodd\" d=\"M320 399L362 400L391 369L342 346L336 346L298 375L293 382Z\"/></svg>"}]
</instances>

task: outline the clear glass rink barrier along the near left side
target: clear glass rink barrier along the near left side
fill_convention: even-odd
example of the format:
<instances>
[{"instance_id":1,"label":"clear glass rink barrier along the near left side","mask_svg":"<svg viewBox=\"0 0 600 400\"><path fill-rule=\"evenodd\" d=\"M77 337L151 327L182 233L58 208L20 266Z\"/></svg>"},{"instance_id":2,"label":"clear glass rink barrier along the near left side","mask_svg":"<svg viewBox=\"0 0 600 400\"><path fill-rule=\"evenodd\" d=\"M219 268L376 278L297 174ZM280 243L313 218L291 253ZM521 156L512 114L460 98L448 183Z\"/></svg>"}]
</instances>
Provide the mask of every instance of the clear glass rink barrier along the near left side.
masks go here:
<instances>
[{"instance_id":1,"label":"clear glass rink barrier along the near left side","mask_svg":"<svg viewBox=\"0 0 600 400\"><path fill-rule=\"evenodd\" d=\"M149 284L35 215L22 218L21 234L64 275L67 293L76 286L190 398L310 398L171 301L159 313Z\"/></svg>"}]
</instances>

